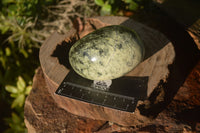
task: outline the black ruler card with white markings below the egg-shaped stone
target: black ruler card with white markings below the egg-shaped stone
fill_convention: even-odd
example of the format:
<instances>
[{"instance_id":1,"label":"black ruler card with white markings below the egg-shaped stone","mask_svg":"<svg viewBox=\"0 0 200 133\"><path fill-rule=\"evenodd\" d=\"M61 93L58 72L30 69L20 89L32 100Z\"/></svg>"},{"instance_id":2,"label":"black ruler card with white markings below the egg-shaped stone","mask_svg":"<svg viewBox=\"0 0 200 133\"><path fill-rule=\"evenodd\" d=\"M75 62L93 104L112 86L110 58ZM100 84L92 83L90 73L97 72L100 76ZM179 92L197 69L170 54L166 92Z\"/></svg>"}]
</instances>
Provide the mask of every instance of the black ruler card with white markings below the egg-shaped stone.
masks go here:
<instances>
[{"instance_id":1,"label":"black ruler card with white markings below the egg-shaped stone","mask_svg":"<svg viewBox=\"0 0 200 133\"><path fill-rule=\"evenodd\" d=\"M56 94L95 105L134 112L138 100L144 100L147 96L147 81L147 77L122 77L114 79L110 89L104 91L93 88L93 81L70 71L56 90Z\"/></svg>"}]
</instances>

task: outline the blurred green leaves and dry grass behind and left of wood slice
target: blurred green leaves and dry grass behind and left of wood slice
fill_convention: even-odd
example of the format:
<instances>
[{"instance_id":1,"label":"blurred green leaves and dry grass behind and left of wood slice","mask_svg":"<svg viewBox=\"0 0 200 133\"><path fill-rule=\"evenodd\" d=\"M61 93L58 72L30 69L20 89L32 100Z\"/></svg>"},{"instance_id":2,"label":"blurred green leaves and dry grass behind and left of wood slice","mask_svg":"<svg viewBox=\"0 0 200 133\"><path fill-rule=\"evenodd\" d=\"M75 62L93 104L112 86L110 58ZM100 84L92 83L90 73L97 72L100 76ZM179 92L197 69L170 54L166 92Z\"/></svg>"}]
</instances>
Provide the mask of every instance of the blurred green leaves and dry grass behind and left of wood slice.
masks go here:
<instances>
[{"instance_id":1,"label":"blurred green leaves and dry grass behind and left of wood slice","mask_svg":"<svg viewBox=\"0 0 200 133\"><path fill-rule=\"evenodd\" d=\"M46 37L65 33L76 17L131 16L148 0L1 0L0 132L27 132L24 102L39 67L39 48Z\"/></svg>"}]
</instances>

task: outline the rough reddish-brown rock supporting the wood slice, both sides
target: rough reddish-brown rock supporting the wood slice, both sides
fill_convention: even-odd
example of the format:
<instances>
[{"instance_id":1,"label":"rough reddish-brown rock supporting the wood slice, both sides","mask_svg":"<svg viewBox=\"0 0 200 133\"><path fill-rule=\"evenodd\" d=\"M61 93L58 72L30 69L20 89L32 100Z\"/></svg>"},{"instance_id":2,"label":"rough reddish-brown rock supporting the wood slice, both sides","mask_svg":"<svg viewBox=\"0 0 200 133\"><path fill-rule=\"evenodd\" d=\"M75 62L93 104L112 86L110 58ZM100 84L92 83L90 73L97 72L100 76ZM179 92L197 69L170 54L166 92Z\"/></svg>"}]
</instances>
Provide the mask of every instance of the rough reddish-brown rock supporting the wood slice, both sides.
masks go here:
<instances>
[{"instance_id":1,"label":"rough reddish-brown rock supporting the wood slice, both sides","mask_svg":"<svg viewBox=\"0 0 200 133\"><path fill-rule=\"evenodd\" d=\"M48 91L42 69L38 68L33 78L32 91L25 102L25 124L29 133L198 132L200 99L195 98L200 96L200 82L196 80L199 76L200 62L167 109L151 122L141 121L124 127L76 116L60 108Z\"/></svg>"}]
</instances>

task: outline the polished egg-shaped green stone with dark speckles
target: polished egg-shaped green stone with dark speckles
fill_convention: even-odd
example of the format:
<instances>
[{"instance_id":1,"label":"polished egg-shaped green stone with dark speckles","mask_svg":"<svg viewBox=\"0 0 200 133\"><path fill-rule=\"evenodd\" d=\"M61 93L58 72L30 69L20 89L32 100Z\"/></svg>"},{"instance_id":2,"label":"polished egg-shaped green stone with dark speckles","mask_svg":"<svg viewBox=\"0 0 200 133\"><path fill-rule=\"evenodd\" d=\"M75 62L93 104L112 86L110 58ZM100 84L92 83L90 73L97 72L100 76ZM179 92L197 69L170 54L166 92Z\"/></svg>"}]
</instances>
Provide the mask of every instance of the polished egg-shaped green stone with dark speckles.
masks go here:
<instances>
[{"instance_id":1,"label":"polished egg-shaped green stone with dark speckles","mask_svg":"<svg viewBox=\"0 0 200 133\"><path fill-rule=\"evenodd\" d=\"M70 49L72 68L84 78L108 80L131 71L143 58L144 48L138 36L122 26L98 29Z\"/></svg>"}]
</instances>

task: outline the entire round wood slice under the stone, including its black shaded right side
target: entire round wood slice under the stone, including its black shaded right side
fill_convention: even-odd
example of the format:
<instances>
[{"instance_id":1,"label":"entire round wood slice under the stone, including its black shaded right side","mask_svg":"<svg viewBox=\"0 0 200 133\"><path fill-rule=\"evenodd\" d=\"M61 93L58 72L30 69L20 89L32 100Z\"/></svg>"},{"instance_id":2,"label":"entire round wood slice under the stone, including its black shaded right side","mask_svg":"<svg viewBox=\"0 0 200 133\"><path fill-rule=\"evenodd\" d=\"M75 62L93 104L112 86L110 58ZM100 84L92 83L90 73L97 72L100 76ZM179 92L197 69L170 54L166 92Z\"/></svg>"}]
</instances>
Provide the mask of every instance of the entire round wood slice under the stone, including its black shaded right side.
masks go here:
<instances>
[{"instance_id":1,"label":"entire round wood slice under the stone, including its black shaded right side","mask_svg":"<svg viewBox=\"0 0 200 133\"><path fill-rule=\"evenodd\" d=\"M133 28L145 45L145 58L126 76L148 77L148 99L139 101L134 113L123 112L107 107L77 101L55 95L59 84L65 78L68 69L68 52L70 46L78 39L95 29L107 25L124 25ZM187 47L187 46L186 46ZM58 107L74 115L94 120L110 121L122 126L150 124L172 100L179 87L183 84L189 70L194 66L196 53L188 49L183 53L179 45L171 43L160 32L148 28L126 17L97 17L87 19L84 30L70 30L66 35L54 33L40 49L40 62L47 90ZM181 58L184 58L181 59ZM188 62L190 61L190 62ZM181 68L184 63L189 63Z\"/></svg>"}]
</instances>

